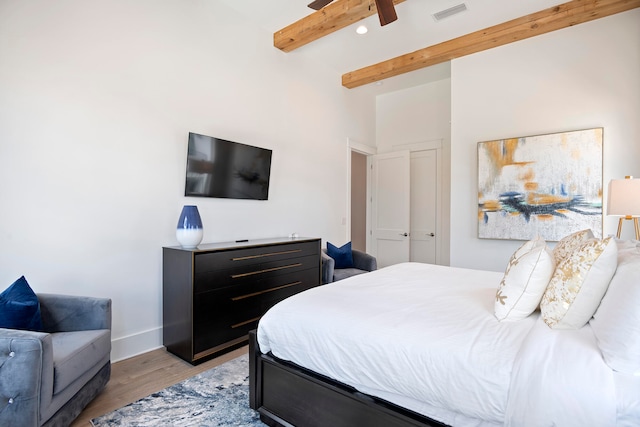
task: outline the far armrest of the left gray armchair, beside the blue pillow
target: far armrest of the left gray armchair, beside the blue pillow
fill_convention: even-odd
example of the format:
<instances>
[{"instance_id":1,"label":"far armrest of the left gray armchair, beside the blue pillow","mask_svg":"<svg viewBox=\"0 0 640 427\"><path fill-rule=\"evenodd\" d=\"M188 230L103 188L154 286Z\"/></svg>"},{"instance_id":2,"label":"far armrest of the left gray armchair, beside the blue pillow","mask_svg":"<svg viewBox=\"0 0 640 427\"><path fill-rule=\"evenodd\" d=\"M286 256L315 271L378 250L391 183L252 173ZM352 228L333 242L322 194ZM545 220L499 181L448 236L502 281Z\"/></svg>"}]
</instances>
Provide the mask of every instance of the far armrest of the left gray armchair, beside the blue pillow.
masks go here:
<instances>
[{"instance_id":1,"label":"far armrest of the left gray armchair, beside the blue pillow","mask_svg":"<svg viewBox=\"0 0 640 427\"><path fill-rule=\"evenodd\" d=\"M58 294L38 294L42 326L47 332L111 329L111 300Z\"/></svg>"}]
</instances>

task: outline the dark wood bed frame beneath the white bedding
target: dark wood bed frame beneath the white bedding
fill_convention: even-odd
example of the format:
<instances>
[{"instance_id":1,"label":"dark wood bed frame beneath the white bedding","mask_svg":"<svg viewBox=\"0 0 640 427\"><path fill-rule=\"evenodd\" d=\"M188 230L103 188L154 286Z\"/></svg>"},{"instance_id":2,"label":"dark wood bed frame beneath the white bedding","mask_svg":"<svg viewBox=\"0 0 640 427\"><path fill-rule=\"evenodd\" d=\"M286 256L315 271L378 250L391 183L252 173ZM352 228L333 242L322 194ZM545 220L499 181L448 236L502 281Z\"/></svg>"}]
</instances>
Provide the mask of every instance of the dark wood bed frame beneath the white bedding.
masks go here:
<instances>
[{"instance_id":1,"label":"dark wood bed frame beneath the white bedding","mask_svg":"<svg viewBox=\"0 0 640 427\"><path fill-rule=\"evenodd\" d=\"M271 427L442 427L438 421L262 354L249 332L249 406Z\"/></svg>"}]
</instances>

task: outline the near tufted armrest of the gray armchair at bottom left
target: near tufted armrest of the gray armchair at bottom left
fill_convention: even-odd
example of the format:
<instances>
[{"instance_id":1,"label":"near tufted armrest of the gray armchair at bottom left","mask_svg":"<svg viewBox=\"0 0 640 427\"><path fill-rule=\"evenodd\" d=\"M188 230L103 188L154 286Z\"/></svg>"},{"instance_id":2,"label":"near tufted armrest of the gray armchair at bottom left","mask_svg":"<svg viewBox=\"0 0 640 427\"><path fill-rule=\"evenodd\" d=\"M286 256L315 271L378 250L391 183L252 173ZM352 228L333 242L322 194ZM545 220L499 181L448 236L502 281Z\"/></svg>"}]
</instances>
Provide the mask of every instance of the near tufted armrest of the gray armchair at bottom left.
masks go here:
<instances>
[{"instance_id":1,"label":"near tufted armrest of the gray armchair at bottom left","mask_svg":"<svg viewBox=\"0 0 640 427\"><path fill-rule=\"evenodd\" d=\"M0 425L39 425L52 394L51 335L0 329Z\"/></svg>"}]
</instances>

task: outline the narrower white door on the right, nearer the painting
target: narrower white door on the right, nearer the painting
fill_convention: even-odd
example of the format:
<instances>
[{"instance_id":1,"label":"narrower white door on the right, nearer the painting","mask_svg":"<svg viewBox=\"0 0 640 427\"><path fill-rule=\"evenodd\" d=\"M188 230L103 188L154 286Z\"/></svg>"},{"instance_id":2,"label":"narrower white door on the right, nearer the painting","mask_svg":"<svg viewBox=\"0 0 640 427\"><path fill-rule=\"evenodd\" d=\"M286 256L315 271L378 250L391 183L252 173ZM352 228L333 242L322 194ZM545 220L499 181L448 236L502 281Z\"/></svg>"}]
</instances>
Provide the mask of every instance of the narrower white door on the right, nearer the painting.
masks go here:
<instances>
[{"instance_id":1,"label":"narrower white door on the right, nearer the painting","mask_svg":"<svg viewBox=\"0 0 640 427\"><path fill-rule=\"evenodd\" d=\"M410 261L436 263L438 151L411 153Z\"/></svg>"}]
</instances>

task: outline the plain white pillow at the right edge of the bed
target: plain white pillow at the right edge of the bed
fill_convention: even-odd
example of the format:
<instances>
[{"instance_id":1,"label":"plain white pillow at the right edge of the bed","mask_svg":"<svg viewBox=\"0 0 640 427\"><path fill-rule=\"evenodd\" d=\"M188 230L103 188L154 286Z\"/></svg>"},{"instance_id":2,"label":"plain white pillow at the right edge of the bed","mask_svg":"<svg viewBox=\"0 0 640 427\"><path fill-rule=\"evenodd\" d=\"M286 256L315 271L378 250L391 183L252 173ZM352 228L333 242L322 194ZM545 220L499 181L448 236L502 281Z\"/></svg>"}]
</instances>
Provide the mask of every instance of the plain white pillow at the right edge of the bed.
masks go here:
<instances>
[{"instance_id":1,"label":"plain white pillow at the right edge of the bed","mask_svg":"<svg viewBox=\"0 0 640 427\"><path fill-rule=\"evenodd\" d=\"M618 244L618 269L589 323L607 365L640 375L640 247Z\"/></svg>"}]
</instances>

